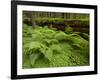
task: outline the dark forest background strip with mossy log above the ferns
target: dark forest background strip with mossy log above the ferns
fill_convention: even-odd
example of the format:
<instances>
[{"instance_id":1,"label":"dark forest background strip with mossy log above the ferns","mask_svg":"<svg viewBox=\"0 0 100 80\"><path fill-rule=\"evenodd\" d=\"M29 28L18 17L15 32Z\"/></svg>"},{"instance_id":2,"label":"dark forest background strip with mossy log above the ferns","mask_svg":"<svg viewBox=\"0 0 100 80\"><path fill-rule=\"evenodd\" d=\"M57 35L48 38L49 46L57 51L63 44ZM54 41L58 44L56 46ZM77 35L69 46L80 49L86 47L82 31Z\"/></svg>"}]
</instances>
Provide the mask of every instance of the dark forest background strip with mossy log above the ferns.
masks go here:
<instances>
[{"instance_id":1,"label":"dark forest background strip with mossy log above the ferns","mask_svg":"<svg viewBox=\"0 0 100 80\"><path fill-rule=\"evenodd\" d=\"M52 24L60 30L70 26L74 31L89 33L89 14L23 11L23 21L30 26Z\"/></svg>"}]
</instances>

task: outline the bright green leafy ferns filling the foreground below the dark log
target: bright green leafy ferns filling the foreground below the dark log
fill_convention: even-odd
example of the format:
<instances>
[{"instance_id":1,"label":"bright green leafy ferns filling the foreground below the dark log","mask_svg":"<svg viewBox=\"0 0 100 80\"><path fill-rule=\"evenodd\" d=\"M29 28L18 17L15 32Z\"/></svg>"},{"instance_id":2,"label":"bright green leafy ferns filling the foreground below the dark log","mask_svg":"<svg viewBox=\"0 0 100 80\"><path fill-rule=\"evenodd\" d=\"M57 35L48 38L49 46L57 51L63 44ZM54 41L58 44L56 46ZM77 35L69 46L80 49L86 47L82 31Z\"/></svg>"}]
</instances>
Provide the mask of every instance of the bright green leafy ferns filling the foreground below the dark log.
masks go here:
<instances>
[{"instance_id":1,"label":"bright green leafy ferns filling the foreground below the dark log","mask_svg":"<svg viewBox=\"0 0 100 80\"><path fill-rule=\"evenodd\" d=\"M23 68L89 65L88 36L67 32L24 25Z\"/></svg>"}]
</instances>

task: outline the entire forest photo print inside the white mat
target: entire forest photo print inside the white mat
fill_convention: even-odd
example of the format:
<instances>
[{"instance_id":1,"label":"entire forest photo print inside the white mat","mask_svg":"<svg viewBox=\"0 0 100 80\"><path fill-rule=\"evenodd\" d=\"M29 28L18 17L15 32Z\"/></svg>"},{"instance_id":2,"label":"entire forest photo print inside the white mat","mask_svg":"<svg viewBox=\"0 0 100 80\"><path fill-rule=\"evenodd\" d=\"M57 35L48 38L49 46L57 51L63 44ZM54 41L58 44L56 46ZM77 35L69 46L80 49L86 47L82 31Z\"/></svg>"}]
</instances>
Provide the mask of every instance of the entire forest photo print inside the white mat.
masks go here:
<instances>
[{"instance_id":1,"label":"entire forest photo print inside the white mat","mask_svg":"<svg viewBox=\"0 0 100 80\"><path fill-rule=\"evenodd\" d=\"M23 11L23 68L89 65L89 14Z\"/></svg>"}]
</instances>

